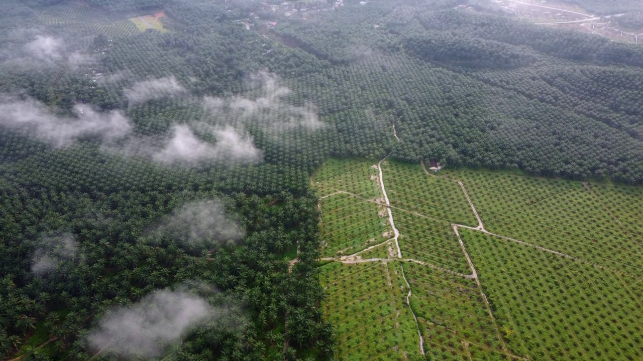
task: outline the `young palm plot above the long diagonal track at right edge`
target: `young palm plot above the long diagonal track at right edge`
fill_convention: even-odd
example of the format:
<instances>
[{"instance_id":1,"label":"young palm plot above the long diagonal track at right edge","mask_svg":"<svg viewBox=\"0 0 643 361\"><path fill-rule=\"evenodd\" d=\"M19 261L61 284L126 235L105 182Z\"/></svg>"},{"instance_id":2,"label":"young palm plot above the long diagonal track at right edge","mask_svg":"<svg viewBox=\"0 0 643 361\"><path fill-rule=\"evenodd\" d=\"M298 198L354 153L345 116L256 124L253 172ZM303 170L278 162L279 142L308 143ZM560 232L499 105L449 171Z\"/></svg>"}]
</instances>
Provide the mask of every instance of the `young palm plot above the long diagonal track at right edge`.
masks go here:
<instances>
[{"instance_id":1,"label":"young palm plot above the long diagonal track at right edge","mask_svg":"<svg viewBox=\"0 0 643 361\"><path fill-rule=\"evenodd\" d=\"M444 174L465 183L488 231L643 276L641 188L485 171Z\"/></svg>"}]
</instances>

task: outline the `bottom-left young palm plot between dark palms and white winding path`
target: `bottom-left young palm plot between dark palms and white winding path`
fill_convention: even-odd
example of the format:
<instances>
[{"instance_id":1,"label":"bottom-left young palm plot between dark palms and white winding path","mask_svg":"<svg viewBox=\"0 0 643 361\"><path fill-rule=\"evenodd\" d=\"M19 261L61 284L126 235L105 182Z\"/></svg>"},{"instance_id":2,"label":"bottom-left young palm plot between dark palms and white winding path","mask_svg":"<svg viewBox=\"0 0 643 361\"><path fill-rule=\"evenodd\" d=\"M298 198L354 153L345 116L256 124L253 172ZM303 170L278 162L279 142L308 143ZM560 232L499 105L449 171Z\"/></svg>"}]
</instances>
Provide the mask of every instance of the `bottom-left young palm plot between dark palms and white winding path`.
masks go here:
<instances>
[{"instance_id":1,"label":"bottom-left young palm plot between dark palms and white winding path","mask_svg":"<svg viewBox=\"0 0 643 361\"><path fill-rule=\"evenodd\" d=\"M321 267L323 309L336 326L339 360L420 360L399 263Z\"/></svg>"}]
</instances>

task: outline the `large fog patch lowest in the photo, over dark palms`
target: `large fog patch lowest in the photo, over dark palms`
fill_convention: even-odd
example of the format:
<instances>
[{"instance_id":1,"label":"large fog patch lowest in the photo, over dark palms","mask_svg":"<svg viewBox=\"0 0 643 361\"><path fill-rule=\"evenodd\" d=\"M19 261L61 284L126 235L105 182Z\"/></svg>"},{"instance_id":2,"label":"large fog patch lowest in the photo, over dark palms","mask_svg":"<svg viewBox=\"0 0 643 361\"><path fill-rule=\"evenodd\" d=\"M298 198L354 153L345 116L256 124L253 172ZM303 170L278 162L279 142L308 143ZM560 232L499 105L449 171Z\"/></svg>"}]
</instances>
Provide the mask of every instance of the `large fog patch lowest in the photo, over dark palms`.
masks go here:
<instances>
[{"instance_id":1,"label":"large fog patch lowest in the photo, over dark palms","mask_svg":"<svg viewBox=\"0 0 643 361\"><path fill-rule=\"evenodd\" d=\"M95 352L104 350L122 358L159 357L191 328L223 314L186 290L158 290L131 307L109 310L87 341Z\"/></svg>"}]
</instances>

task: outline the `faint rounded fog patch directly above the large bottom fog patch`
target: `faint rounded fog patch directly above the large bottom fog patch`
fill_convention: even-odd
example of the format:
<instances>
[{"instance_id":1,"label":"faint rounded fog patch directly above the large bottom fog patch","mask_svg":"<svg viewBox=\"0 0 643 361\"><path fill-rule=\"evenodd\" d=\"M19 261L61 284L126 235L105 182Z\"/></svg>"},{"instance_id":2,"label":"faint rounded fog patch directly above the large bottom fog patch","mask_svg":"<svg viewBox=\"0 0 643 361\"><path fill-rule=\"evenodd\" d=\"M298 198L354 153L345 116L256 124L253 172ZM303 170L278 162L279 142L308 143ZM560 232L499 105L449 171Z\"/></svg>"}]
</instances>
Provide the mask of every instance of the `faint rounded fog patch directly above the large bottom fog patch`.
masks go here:
<instances>
[{"instance_id":1,"label":"faint rounded fog patch directly above the large bottom fog patch","mask_svg":"<svg viewBox=\"0 0 643 361\"><path fill-rule=\"evenodd\" d=\"M227 215L224 204L216 199L185 204L150 232L153 238L167 236L190 247L233 245L245 234L237 217Z\"/></svg>"}]
</instances>

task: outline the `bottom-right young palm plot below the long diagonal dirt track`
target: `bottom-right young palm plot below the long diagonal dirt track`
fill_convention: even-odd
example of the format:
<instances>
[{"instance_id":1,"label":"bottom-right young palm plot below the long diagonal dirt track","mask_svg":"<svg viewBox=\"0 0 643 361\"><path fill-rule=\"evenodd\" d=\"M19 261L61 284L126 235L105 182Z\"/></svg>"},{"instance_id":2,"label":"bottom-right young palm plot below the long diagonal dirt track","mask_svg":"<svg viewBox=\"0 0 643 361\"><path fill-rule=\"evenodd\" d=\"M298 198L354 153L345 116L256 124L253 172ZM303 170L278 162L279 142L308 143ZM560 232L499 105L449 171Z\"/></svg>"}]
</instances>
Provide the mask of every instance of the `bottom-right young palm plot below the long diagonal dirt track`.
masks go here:
<instances>
[{"instance_id":1,"label":"bottom-right young palm plot below the long diagonal dirt track","mask_svg":"<svg viewBox=\"0 0 643 361\"><path fill-rule=\"evenodd\" d=\"M461 230L512 352L532 360L639 360L638 279Z\"/></svg>"}]
</instances>

